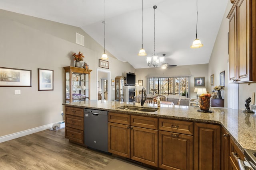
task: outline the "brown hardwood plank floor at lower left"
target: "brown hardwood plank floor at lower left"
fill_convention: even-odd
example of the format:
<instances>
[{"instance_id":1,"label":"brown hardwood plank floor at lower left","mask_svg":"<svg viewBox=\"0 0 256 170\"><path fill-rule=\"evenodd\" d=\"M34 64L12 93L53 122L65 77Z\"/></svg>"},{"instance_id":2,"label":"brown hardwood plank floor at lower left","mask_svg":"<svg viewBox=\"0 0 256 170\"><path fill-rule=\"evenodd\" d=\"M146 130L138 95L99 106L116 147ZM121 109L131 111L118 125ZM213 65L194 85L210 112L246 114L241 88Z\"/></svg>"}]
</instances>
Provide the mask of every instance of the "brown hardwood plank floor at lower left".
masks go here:
<instances>
[{"instance_id":1,"label":"brown hardwood plank floor at lower left","mask_svg":"<svg viewBox=\"0 0 256 170\"><path fill-rule=\"evenodd\" d=\"M102 170L114 156L70 143L65 129L0 143L0 170Z\"/></svg>"}]
</instances>

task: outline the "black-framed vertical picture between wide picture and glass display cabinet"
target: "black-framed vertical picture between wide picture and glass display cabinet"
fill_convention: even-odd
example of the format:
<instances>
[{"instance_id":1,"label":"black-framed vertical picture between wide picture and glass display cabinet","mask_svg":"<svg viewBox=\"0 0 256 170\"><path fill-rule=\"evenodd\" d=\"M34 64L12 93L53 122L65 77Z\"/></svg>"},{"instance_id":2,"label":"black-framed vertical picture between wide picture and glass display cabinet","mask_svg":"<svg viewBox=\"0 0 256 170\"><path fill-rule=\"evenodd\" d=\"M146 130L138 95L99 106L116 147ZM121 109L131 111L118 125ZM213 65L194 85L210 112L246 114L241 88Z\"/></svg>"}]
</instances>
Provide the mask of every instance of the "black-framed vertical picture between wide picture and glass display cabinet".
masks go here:
<instances>
[{"instance_id":1,"label":"black-framed vertical picture between wide picture and glass display cabinet","mask_svg":"<svg viewBox=\"0 0 256 170\"><path fill-rule=\"evenodd\" d=\"M38 91L53 90L53 70L38 68Z\"/></svg>"}]
</instances>

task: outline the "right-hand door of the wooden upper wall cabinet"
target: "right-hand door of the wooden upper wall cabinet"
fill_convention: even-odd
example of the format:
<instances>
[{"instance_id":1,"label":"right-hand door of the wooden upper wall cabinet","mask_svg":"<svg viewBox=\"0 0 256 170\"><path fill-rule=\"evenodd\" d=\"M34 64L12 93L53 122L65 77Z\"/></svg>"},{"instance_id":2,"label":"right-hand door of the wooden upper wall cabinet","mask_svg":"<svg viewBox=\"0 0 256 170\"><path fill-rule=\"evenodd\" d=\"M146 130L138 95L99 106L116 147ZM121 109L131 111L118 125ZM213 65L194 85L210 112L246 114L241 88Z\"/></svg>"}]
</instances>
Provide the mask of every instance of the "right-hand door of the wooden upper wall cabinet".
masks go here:
<instances>
[{"instance_id":1,"label":"right-hand door of the wooden upper wall cabinet","mask_svg":"<svg viewBox=\"0 0 256 170\"><path fill-rule=\"evenodd\" d=\"M237 78L238 82L249 81L252 52L250 51L251 0L240 0L237 5Z\"/></svg>"}]
</instances>

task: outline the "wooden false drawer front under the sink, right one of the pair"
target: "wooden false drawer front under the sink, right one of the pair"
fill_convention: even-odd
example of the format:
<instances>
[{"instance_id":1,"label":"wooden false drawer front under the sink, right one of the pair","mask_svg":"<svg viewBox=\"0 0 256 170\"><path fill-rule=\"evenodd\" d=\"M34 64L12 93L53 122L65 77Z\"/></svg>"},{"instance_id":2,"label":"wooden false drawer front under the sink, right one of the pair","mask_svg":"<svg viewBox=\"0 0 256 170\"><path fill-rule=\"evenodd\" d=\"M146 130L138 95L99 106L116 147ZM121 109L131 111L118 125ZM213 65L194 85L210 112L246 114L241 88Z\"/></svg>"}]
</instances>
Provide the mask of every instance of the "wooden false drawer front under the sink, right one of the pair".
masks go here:
<instances>
[{"instance_id":1,"label":"wooden false drawer front under the sink, right one of the pair","mask_svg":"<svg viewBox=\"0 0 256 170\"><path fill-rule=\"evenodd\" d=\"M131 115L131 126L144 127L148 129L158 129L158 119L156 117L145 117Z\"/></svg>"}]
</instances>

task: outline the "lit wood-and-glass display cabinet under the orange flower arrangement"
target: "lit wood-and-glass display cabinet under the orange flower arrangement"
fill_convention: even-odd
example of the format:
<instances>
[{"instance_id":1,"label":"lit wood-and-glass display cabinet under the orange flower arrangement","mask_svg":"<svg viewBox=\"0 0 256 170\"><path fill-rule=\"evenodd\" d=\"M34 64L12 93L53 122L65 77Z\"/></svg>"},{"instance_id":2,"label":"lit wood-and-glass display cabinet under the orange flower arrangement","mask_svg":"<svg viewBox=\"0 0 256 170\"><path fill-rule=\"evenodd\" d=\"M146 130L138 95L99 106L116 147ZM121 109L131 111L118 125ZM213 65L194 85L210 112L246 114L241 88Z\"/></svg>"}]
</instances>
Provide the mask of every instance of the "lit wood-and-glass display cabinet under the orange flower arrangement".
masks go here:
<instances>
[{"instance_id":1,"label":"lit wood-and-glass display cabinet under the orange flower arrangement","mask_svg":"<svg viewBox=\"0 0 256 170\"><path fill-rule=\"evenodd\" d=\"M90 72L92 70L66 66L65 103L90 100Z\"/></svg>"}]
</instances>

